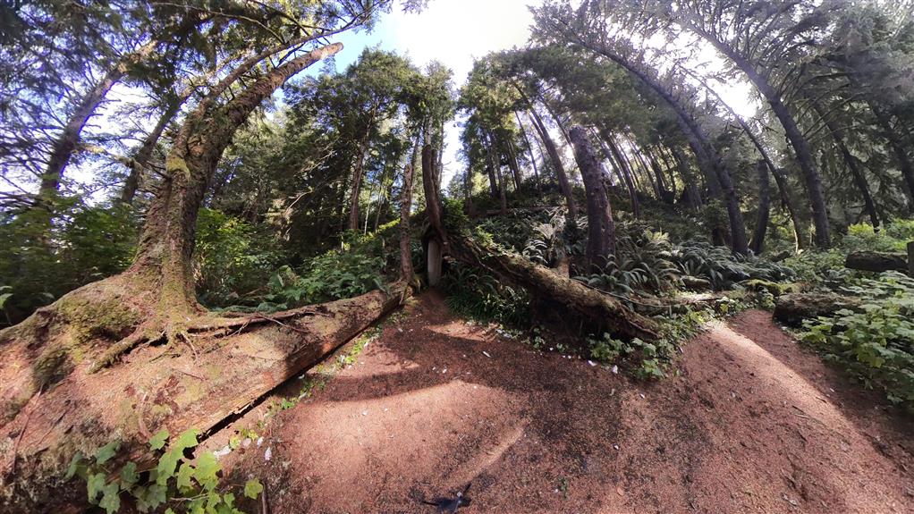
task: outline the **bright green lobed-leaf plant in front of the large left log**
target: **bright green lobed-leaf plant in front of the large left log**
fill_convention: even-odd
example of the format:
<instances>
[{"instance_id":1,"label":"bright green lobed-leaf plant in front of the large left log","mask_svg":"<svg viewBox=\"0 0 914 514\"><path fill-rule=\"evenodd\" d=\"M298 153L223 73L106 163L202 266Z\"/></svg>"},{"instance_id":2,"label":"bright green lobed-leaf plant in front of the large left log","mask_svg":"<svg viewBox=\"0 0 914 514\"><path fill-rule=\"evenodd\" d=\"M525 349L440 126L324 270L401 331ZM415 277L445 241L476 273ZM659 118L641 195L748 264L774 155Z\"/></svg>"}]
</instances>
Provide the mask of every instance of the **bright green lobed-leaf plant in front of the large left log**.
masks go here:
<instances>
[{"instance_id":1,"label":"bright green lobed-leaf plant in front of the large left log","mask_svg":"<svg viewBox=\"0 0 914 514\"><path fill-rule=\"evenodd\" d=\"M128 461L116 467L120 441L101 446L90 456L78 452L70 461L65 479L76 476L86 480L89 502L113 514L121 509L121 498L132 498L136 509L150 512L165 507L165 514L189 512L203 514L243 514L235 507L235 495L219 484L222 466L216 456L205 453L192 461L186 451L197 446L198 431L190 429L169 443L162 430L149 441L157 457L155 467L143 469ZM167 445L167 448L165 447ZM249 480L244 495L256 499L263 491L260 480ZM176 510L175 510L176 509Z\"/></svg>"}]
</instances>

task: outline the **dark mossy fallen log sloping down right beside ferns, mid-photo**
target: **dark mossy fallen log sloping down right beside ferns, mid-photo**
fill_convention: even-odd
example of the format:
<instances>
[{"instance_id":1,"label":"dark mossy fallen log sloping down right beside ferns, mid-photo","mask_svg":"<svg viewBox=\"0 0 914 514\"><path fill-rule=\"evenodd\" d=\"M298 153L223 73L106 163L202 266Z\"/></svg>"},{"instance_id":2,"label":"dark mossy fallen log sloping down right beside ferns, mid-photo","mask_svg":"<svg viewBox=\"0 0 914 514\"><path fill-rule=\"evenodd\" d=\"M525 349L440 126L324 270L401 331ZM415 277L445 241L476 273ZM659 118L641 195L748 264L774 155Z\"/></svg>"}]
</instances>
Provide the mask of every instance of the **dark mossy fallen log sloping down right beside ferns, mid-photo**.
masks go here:
<instances>
[{"instance_id":1,"label":"dark mossy fallen log sloping down right beside ferns, mid-photo","mask_svg":"<svg viewBox=\"0 0 914 514\"><path fill-rule=\"evenodd\" d=\"M652 341L658 337L653 320L625 307L577 280L561 277L528 259L483 247L469 236L449 235L448 252L462 262L481 267L498 278L526 288L535 296L552 300L590 325L613 334Z\"/></svg>"}]
</instances>

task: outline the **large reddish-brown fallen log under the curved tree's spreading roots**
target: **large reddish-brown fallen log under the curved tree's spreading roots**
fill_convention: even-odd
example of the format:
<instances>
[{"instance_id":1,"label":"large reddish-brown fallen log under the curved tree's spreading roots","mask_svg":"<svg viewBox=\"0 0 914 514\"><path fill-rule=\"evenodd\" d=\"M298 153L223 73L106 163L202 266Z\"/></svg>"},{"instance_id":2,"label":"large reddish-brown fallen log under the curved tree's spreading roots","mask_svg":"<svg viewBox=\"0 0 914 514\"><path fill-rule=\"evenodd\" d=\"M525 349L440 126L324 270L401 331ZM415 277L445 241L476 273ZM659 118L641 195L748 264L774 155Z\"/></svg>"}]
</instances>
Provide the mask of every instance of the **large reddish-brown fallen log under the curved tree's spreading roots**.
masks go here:
<instances>
[{"instance_id":1,"label":"large reddish-brown fallen log under the curved tree's spreading roots","mask_svg":"<svg viewBox=\"0 0 914 514\"><path fill-rule=\"evenodd\" d=\"M43 511L48 502L59 505L62 498L80 501L84 486L62 480L78 450L90 453L117 438L127 452L140 456L150 435L162 428L178 434L193 427L207 434L320 362L408 296L406 282L397 282L387 291L272 315L204 315L189 322L183 345L141 346L95 373L90 372L92 362L111 340L99 332L80 341L80 350L67 355L65 376L14 406L12 419L0 421L0 511ZM31 330L43 329L24 323L0 332L5 357L0 374L34 368L36 360L20 359L34 353L27 348L34 341L28 337ZM28 374L38 373L32 369ZM8 389L17 386L21 383L2 385L5 401L16 398ZM15 473L10 473L14 462Z\"/></svg>"}]
</instances>

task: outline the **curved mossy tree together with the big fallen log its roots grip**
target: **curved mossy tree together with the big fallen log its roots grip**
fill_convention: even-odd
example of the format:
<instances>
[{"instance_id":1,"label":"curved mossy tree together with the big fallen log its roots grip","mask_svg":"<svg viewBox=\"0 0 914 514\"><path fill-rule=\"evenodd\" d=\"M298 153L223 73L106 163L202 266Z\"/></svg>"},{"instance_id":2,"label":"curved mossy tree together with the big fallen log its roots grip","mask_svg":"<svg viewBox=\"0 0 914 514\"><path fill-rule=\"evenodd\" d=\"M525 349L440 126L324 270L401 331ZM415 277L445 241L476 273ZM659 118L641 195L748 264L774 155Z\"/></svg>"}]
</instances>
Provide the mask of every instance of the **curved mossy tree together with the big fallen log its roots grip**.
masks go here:
<instances>
[{"instance_id":1,"label":"curved mossy tree together with the big fallen log its roots grip","mask_svg":"<svg viewBox=\"0 0 914 514\"><path fill-rule=\"evenodd\" d=\"M141 436L144 426L207 430L399 303L404 284L388 288L389 296L376 291L233 319L202 316L195 298L190 263L198 209L232 134L286 79L340 49L334 44L294 58L218 108L208 102L204 109L201 102L175 138L133 266L0 332L0 406L4 420L12 420L0 437L25 431L17 450L31 467L16 480L27 478L29 488L60 487L59 467L77 449L90 450L114 435L138 448L148 439ZM214 341L225 337L232 338L228 344ZM162 340L171 344L143 346ZM195 342L207 351L198 353ZM271 349L276 357L264 359ZM138 355L116 370L96 372L134 350ZM245 357L241 364L239 355ZM226 362L234 363L223 368ZM179 371L188 368L195 371ZM138 424L147 400L154 414Z\"/></svg>"}]
</instances>

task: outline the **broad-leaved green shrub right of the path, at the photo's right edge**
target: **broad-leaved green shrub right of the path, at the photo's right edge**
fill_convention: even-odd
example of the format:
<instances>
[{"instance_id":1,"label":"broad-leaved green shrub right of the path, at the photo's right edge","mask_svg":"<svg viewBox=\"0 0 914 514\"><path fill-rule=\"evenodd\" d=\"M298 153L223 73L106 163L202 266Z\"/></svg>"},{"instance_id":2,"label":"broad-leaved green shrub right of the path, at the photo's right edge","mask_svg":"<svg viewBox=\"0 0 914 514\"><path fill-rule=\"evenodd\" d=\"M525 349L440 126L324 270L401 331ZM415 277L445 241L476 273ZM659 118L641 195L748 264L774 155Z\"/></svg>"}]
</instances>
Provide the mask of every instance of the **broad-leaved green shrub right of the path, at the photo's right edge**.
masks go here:
<instances>
[{"instance_id":1,"label":"broad-leaved green shrub right of the path, at the photo's right edge","mask_svg":"<svg viewBox=\"0 0 914 514\"><path fill-rule=\"evenodd\" d=\"M860 311L806 320L802 341L893 403L914 406L914 278L889 271L844 291L864 299Z\"/></svg>"}]
</instances>

